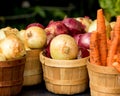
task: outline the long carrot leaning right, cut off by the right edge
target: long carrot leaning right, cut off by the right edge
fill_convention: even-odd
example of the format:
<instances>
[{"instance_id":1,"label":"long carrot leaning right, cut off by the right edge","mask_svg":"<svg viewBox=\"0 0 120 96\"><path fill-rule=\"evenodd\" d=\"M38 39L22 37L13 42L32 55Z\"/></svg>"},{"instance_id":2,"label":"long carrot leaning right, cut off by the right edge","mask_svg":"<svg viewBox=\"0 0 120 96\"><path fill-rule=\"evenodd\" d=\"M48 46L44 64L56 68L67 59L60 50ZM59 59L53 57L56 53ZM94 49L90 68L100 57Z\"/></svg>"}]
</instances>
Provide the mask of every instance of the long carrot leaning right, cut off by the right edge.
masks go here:
<instances>
[{"instance_id":1,"label":"long carrot leaning right, cut off by the right edge","mask_svg":"<svg viewBox=\"0 0 120 96\"><path fill-rule=\"evenodd\" d=\"M107 66L112 66L114 59L113 56L117 53L119 45L119 40L120 40L120 16L117 17L117 21L114 27L114 37L111 42L110 49L108 51L108 58L107 58Z\"/></svg>"}]
</instances>

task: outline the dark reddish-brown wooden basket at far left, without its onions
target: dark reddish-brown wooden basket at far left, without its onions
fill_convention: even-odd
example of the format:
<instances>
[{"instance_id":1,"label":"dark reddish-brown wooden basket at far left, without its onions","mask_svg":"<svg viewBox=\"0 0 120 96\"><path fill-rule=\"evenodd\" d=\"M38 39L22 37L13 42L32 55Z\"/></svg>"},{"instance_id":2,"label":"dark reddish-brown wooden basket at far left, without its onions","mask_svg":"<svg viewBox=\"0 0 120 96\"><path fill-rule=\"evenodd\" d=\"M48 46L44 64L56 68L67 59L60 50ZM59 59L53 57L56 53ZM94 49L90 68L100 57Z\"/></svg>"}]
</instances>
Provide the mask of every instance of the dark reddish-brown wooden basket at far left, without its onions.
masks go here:
<instances>
[{"instance_id":1,"label":"dark reddish-brown wooden basket at far left, without its onions","mask_svg":"<svg viewBox=\"0 0 120 96\"><path fill-rule=\"evenodd\" d=\"M21 92L26 56L0 61L0 96L14 96Z\"/></svg>"}]
</instances>

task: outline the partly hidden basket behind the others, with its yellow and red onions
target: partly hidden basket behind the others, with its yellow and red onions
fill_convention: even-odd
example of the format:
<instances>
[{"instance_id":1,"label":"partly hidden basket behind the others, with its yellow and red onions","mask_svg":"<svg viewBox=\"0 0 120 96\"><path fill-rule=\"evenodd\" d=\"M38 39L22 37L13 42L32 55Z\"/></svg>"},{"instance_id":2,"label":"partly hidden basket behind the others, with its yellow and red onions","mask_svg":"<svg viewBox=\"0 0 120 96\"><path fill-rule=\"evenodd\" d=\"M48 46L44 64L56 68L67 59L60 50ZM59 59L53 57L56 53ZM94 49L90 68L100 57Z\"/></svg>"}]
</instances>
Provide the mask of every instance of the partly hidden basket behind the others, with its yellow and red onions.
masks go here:
<instances>
[{"instance_id":1,"label":"partly hidden basket behind the others, with its yellow and red onions","mask_svg":"<svg viewBox=\"0 0 120 96\"><path fill-rule=\"evenodd\" d=\"M40 84L42 82L42 65L39 53L46 44L46 33L40 23L31 23L18 34L26 49L26 63L24 70L24 86Z\"/></svg>"}]
</instances>

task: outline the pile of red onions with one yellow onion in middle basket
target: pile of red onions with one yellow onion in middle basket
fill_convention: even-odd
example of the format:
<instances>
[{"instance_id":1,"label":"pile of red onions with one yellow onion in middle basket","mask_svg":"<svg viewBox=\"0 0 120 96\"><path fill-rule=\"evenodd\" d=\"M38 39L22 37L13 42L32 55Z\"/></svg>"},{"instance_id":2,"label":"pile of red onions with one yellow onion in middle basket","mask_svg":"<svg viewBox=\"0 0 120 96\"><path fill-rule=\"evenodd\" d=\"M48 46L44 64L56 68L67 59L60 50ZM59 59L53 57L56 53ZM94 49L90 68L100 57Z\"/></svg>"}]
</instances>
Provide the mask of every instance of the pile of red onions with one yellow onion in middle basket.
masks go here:
<instances>
[{"instance_id":1,"label":"pile of red onions with one yellow onion in middle basket","mask_svg":"<svg viewBox=\"0 0 120 96\"><path fill-rule=\"evenodd\" d=\"M91 33L87 33L85 28L86 27L82 24L82 21L80 22L75 18L67 17L62 21L50 21L45 28L47 33L47 45L45 47L46 56L54 59L75 59L89 56L88 50ZM72 40L66 35L72 37ZM70 50L73 50L73 53L69 54L70 57L66 56L63 50L60 49L62 46L64 47L63 49L68 51L69 48L67 49L65 47L65 42L68 41L68 45L71 47ZM74 41L76 42L75 45L73 44ZM72 57L72 54L77 54L77 56L74 55Z\"/></svg>"}]
</instances>

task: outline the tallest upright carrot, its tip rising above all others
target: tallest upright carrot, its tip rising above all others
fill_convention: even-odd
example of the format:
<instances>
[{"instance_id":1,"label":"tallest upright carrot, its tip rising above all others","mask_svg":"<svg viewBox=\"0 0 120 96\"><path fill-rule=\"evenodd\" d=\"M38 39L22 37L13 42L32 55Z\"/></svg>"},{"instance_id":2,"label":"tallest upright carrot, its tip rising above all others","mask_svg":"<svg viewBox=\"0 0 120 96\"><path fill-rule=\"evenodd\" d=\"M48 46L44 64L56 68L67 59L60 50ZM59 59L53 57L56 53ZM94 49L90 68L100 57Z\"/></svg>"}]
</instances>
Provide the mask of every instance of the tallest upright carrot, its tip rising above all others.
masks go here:
<instances>
[{"instance_id":1,"label":"tallest upright carrot, its tip rising above all others","mask_svg":"<svg viewBox=\"0 0 120 96\"><path fill-rule=\"evenodd\" d=\"M99 35L99 51L101 64L107 65L107 36L106 36L106 25L103 10L97 11L97 32Z\"/></svg>"}]
</instances>

